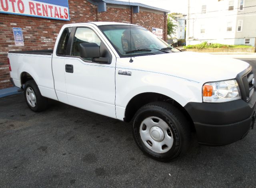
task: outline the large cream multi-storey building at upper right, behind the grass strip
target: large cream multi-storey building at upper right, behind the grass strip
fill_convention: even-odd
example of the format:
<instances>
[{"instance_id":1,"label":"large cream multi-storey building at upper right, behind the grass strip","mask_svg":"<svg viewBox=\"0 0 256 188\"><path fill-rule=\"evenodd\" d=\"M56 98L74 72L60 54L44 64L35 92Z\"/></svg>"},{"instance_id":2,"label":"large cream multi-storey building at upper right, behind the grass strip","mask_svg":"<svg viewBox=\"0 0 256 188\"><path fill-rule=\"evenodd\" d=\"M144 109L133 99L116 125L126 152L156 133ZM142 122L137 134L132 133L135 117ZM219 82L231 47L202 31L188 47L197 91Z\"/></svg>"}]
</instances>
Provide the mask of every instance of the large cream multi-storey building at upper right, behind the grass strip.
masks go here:
<instances>
[{"instance_id":1,"label":"large cream multi-storey building at upper right, behind the grass strip","mask_svg":"<svg viewBox=\"0 0 256 188\"><path fill-rule=\"evenodd\" d=\"M256 0L188 0L186 45L256 46Z\"/></svg>"}]
</instances>

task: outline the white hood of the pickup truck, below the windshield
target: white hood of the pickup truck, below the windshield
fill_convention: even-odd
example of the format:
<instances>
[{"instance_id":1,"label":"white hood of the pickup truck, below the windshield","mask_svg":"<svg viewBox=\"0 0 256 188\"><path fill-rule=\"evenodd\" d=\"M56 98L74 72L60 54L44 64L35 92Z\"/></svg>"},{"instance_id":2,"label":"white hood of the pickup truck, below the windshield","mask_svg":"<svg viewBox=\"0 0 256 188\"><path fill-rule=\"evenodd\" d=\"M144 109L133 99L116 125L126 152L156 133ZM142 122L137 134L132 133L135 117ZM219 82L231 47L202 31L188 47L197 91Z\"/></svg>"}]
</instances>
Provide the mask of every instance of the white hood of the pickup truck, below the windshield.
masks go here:
<instances>
[{"instance_id":1,"label":"white hood of the pickup truck, below the windshield","mask_svg":"<svg viewBox=\"0 0 256 188\"><path fill-rule=\"evenodd\" d=\"M125 65L120 68L157 72L203 83L236 78L250 66L241 60L196 52L137 56L133 63L129 63L128 58L121 59L118 60L120 66Z\"/></svg>"}]
</instances>

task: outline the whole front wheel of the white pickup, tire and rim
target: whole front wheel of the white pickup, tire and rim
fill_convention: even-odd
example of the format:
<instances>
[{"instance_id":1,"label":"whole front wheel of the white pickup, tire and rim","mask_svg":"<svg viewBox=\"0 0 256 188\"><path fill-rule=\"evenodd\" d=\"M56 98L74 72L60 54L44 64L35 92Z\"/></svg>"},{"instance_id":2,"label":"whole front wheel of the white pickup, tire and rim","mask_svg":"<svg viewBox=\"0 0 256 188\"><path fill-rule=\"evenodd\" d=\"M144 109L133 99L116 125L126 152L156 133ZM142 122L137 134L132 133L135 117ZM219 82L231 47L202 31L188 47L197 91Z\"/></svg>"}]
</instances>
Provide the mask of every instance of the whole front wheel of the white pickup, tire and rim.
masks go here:
<instances>
[{"instance_id":1,"label":"whole front wheel of the white pickup, tire and rim","mask_svg":"<svg viewBox=\"0 0 256 188\"><path fill-rule=\"evenodd\" d=\"M133 136L144 154L155 160L169 162L188 149L190 124L175 106L153 102L136 113Z\"/></svg>"}]
</instances>

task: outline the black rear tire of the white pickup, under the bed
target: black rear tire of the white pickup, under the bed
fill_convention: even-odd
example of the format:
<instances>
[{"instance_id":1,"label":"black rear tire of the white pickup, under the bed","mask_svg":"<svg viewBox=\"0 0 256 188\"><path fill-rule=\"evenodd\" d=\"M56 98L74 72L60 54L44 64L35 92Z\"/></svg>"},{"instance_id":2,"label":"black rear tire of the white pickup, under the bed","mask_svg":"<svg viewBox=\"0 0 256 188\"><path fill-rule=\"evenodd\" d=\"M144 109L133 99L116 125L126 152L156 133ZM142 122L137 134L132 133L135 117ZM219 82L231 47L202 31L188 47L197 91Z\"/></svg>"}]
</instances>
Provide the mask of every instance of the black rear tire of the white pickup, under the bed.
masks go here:
<instances>
[{"instance_id":1,"label":"black rear tire of the white pickup, under the bed","mask_svg":"<svg viewBox=\"0 0 256 188\"><path fill-rule=\"evenodd\" d=\"M33 103L34 105L32 104L33 101L27 98L29 91L32 92L36 98L35 102ZM41 95L40 90L34 80L29 80L25 83L24 96L28 107L34 112L42 112L48 106L48 98L45 98Z\"/></svg>"}]
</instances>

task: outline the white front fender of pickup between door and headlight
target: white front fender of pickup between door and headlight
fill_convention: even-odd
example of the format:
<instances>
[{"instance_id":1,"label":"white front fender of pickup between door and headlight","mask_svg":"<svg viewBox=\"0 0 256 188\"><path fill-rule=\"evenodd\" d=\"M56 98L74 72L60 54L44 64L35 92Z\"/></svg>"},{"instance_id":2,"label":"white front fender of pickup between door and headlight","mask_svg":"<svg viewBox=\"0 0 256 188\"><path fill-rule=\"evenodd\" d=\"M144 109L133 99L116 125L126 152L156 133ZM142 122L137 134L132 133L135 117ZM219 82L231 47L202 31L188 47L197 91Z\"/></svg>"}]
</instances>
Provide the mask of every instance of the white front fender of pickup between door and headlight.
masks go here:
<instances>
[{"instance_id":1,"label":"white front fender of pickup between door and headlight","mask_svg":"<svg viewBox=\"0 0 256 188\"><path fill-rule=\"evenodd\" d=\"M127 104L134 96L146 92L168 96L185 106L188 102L202 102L202 84L183 78L133 70L132 76L116 75L116 114L124 118Z\"/></svg>"}]
</instances>

